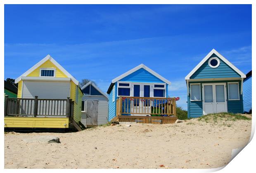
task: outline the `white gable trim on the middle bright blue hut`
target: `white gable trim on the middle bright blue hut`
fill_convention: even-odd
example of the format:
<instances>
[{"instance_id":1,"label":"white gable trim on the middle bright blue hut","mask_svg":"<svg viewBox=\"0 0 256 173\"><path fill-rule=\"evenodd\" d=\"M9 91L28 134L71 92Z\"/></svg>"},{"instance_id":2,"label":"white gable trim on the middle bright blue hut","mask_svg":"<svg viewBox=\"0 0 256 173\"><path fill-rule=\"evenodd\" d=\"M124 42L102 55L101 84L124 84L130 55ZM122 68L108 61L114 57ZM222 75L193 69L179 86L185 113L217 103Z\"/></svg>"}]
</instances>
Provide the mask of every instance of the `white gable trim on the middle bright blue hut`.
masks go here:
<instances>
[{"instance_id":1,"label":"white gable trim on the middle bright blue hut","mask_svg":"<svg viewBox=\"0 0 256 173\"><path fill-rule=\"evenodd\" d=\"M147 70L148 72L150 72L152 75L158 77L159 79L161 79L162 81L164 81L166 84L171 84L170 81L168 81L167 79L165 79L164 77L162 77L161 75L159 75L158 73L154 72L153 70L151 70L150 68L148 68L146 65L144 64L140 64L137 67L129 70L128 72L123 73L123 75L120 75L119 77L116 77L115 79L112 80L112 83L115 83L117 81L119 81L120 79L123 79L124 77L130 75L131 73L139 70L140 68L144 68L145 70Z\"/></svg>"}]
</instances>

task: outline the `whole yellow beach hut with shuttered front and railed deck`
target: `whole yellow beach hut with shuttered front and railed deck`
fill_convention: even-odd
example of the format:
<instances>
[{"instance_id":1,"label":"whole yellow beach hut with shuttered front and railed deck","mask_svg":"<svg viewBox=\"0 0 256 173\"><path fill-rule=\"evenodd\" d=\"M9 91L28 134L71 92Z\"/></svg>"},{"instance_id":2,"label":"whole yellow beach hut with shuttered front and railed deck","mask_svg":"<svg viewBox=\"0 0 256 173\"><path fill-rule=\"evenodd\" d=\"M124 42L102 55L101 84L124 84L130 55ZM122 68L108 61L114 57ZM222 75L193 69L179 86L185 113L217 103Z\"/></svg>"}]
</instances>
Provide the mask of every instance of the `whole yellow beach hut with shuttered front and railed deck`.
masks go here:
<instances>
[{"instance_id":1,"label":"whole yellow beach hut with shuttered front and railed deck","mask_svg":"<svg viewBox=\"0 0 256 173\"><path fill-rule=\"evenodd\" d=\"M15 79L17 98L5 97L5 130L80 130L79 82L50 55Z\"/></svg>"}]
</instances>

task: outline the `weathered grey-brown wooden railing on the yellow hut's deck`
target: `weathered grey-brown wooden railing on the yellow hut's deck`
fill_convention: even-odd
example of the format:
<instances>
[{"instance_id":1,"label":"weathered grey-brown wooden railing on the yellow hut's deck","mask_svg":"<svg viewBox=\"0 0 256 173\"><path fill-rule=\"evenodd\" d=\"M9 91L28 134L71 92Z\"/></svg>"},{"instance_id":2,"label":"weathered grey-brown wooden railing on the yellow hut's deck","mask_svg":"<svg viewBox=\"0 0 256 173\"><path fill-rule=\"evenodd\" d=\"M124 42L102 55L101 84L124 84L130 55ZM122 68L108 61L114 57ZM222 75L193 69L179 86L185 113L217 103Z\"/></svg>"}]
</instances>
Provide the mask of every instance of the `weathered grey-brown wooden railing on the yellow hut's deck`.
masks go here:
<instances>
[{"instance_id":1,"label":"weathered grey-brown wooden railing on the yellow hut's deck","mask_svg":"<svg viewBox=\"0 0 256 173\"><path fill-rule=\"evenodd\" d=\"M69 117L72 115L69 99L8 98L5 97L5 116L14 117Z\"/></svg>"}]
</instances>

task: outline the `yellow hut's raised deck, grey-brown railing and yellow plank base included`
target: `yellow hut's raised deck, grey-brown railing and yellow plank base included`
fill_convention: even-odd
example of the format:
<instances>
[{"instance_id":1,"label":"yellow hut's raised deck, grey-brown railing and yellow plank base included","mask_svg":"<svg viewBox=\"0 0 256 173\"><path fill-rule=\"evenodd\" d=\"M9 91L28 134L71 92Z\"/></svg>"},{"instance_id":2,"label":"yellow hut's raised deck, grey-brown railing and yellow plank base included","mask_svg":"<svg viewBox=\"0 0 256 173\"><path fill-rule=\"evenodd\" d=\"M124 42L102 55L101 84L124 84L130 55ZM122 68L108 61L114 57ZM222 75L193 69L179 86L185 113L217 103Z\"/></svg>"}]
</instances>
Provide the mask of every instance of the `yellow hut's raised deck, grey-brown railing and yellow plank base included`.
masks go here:
<instances>
[{"instance_id":1,"label":"yellow hut's raised deck, grey-brown railing and yellow plank base included","mask_svg":"<svg viewBox=\"0 0 256 173\"><path fill-rule=\"evenodd\" d=\"M67 129L73 120L73 101L5 97L5 128ZM79 130L79 129L78 129Z\"/></svg>"}]
</instances>

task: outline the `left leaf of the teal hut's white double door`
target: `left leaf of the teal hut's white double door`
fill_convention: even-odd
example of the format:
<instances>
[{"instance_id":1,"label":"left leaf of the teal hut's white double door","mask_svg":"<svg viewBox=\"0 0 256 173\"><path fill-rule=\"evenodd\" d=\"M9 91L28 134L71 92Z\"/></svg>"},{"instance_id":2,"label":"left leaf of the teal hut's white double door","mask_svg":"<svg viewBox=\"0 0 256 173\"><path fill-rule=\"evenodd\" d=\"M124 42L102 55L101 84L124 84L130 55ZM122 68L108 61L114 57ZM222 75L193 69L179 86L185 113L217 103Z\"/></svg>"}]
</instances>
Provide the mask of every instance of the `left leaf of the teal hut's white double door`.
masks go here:
<instances>
[{"instance_id":1,"label":"left leaf of the teal hut's white double door","mask_svg":"<svg viewBox=\"0 0 256 173\"><path fill-rule=\"evenodd\" d=\"M213 84L203 84L204 115L214 113Z\"/></svg>"}]
</instances>

